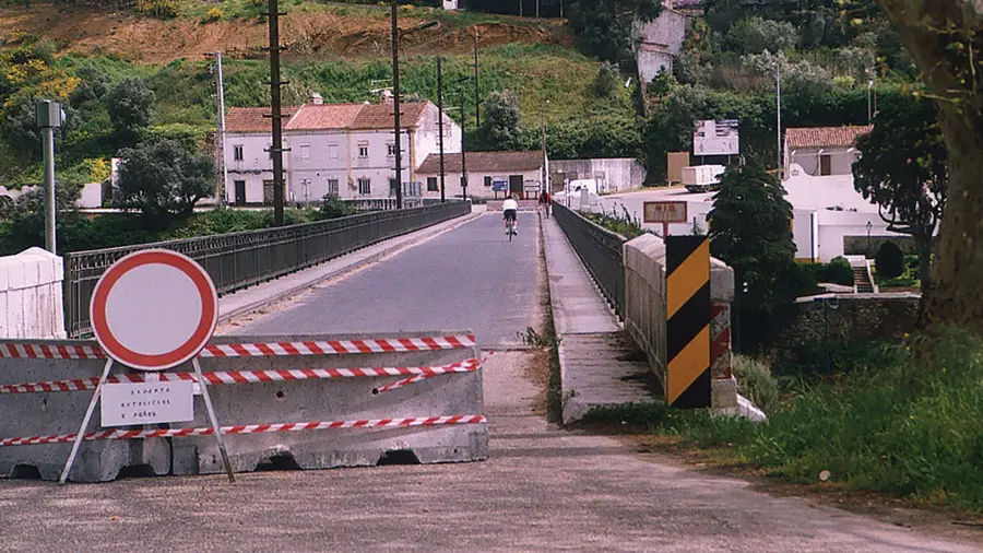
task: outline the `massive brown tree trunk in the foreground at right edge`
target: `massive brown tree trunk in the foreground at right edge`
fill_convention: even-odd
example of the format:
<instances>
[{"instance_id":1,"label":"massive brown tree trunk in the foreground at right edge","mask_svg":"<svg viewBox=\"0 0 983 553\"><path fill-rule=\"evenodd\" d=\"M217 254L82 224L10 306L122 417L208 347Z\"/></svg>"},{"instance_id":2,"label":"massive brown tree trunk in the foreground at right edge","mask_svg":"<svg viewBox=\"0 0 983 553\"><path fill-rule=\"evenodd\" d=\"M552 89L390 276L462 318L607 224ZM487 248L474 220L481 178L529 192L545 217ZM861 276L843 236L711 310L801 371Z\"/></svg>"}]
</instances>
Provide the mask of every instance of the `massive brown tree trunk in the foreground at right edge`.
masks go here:
<instances>
[{"instance_id":1,"label":"massive brown tree trunk in the foreground at right edge","mask_svg":"<svg viewBox=\"0 0 983 553\"><path fill-rule=\"evenodd\" d=\"M919 322L956 325L983 334L983 12L966 0L880 0L888 20L939 101L939 123L949 155L946 210L923 296Z\"/></svg>"}]
</instances>

